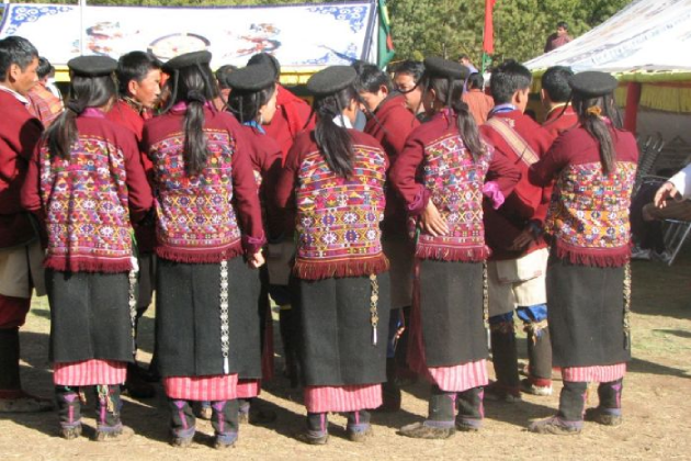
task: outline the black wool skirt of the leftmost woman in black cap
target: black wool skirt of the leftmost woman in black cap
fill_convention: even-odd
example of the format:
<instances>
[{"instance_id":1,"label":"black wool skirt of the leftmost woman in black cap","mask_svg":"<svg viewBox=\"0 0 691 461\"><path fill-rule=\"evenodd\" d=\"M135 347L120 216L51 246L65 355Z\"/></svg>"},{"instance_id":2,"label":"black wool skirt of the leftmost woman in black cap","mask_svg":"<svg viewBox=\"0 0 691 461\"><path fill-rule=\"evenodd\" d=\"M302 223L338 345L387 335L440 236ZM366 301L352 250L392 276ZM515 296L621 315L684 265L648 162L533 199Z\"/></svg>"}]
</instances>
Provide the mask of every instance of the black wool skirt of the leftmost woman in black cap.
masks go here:
<instances>
[{"instance_id":1,"label":"black wool skirt of the leftmost woman in black cap","mask_svg":"<svg viewBox=\"0 0 691 461\"><path fill-rule=\"evenodd\" d=\"M133 361L128 273L46 269L50 360Z\"/></svg>"}]
</instances>

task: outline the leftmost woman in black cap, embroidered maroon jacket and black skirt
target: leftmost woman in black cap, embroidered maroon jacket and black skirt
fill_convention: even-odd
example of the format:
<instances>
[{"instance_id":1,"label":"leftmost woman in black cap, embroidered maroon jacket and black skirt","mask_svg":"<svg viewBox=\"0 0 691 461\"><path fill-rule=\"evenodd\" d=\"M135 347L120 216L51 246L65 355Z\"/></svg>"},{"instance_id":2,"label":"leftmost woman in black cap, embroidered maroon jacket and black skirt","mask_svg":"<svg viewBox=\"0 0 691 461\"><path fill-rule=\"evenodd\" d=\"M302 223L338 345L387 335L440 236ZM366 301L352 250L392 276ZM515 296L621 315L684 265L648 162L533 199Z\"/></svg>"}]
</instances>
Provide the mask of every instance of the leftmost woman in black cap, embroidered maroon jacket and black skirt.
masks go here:
<instances>
[{"instance_id":1,"label":"leftmost woman in black cap, embroidered maroon jacket and black skirt","mask_svg":"<svg viewBox=\"0 0 691 461\"><path fill-rule=\"evenodd\" d=\"M81 434L84 386L95 386L97 440L133 434L120 418L136 318L131 222L152 198L134 134L105 119L116 66L102 56L68 63L67 110L39 142L22 195L47 229L53 381L66 439Z\"/></svg>"}]
</instances>

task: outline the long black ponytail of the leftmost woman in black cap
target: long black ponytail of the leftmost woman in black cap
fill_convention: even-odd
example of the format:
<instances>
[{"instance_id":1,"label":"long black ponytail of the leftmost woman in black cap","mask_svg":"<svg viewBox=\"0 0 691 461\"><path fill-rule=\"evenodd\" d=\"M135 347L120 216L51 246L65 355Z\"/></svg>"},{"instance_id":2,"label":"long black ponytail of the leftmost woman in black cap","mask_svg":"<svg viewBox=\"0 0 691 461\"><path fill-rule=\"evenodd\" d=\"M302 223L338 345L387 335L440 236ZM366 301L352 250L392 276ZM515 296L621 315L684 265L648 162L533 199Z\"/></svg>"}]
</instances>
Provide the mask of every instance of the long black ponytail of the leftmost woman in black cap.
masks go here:
<instances>
[{"instance_id":1,"label":"long black ponytail of the leftmost woman in black cap","mask_svg":"<svg viewBox=\"0 0 691 461\"><path fill-rule=\"evenodd\" d=\"M87 108L102 108L117 93L113 76L83 77L73 75L65 111L48 126L44 137L54 157L67 159L77 142L77 116Z\"/></svg>"}]
</instances>

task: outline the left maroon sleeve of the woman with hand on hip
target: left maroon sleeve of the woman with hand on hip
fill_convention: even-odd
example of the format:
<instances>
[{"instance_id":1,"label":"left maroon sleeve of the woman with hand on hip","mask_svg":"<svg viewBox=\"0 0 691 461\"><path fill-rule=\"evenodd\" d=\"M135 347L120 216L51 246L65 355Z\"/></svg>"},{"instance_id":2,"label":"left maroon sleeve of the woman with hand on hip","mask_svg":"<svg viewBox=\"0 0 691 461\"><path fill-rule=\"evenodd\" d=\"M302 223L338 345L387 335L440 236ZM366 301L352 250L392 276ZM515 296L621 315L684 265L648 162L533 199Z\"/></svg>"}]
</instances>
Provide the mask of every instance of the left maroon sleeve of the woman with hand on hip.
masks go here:
<instances>
[{"instance_id":1,"label":"left maroon sleeve of the woman with hand on hip","mask_svg":"<svg viewBox=\"0 0 691 461\"><path fill-rule=\"evenodd\" d=\"M418 167L424 159L424 143L419 136L410 135L392 167L389 180L406 202L408 213L417 215L424 210L430 199L427 188L416 181Z\"/></svg>"}]
</instances>

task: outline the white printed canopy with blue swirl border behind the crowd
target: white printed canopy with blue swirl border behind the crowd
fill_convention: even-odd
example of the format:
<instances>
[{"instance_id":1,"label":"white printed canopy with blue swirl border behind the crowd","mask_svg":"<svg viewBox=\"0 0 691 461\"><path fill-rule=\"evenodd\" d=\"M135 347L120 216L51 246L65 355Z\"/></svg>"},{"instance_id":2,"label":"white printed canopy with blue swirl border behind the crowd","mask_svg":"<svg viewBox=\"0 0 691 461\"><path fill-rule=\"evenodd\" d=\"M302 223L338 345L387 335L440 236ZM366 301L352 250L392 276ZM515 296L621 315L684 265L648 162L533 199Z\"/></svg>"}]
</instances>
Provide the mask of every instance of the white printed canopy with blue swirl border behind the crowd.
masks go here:
<instances>
[{"instance_id":1,"label":"white printed canopy with blue swirl border behind the crowd","mask_svg":"<svg viewBox=\"0 0 691 461\"><path fill-rule=\"evenodd\" d=\"M64 65L80 55L80 21L78 5L10 3L0 38L21 35L52 64ZM337 5L86 7L83 25L84 54L113 58L138 49L165 61L207 49L214 68L245 66L260 52L294 68L376 61L373 0Z\"/></svg>"}]
</instances>

